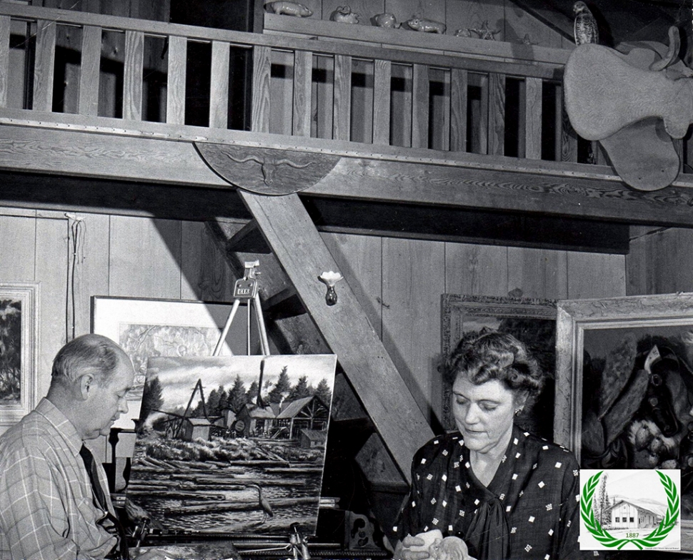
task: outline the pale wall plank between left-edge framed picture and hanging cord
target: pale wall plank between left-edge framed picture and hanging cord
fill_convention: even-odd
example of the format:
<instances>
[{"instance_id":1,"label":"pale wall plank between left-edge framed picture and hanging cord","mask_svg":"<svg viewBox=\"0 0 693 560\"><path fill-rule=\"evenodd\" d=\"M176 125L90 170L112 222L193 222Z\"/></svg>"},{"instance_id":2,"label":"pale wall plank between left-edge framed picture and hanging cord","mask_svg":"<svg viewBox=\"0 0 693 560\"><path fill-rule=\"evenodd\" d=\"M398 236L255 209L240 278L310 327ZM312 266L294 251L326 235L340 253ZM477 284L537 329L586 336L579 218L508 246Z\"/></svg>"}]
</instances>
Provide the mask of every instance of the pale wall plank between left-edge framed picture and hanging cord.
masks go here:
<instances>
[{"instance_id":1,"label":"pale wall plank between left-edge framed picture and hanging cord","mask_svg":"<svg viewBox=\"0 0 693 560\"><path fill-rule=\"evenodd\" d=\"M48 391L53 358L66 342L67 231L66 219L36 220L35 280L41 282L37 394L41 397Z\"/></svg>"}]
</instances>

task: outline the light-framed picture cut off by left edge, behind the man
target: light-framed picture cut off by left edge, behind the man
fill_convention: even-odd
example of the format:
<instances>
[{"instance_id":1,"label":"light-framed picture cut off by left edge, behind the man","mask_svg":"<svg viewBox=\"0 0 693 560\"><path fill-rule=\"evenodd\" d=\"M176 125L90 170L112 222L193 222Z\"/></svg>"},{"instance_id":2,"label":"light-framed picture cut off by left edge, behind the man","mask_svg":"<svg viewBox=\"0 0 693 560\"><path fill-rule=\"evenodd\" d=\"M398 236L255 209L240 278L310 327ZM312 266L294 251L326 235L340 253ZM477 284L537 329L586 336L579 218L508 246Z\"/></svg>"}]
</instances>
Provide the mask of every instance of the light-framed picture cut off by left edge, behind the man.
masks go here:
<instances>
[{"instance_id":1,"label":"light-framed picture cut off by left edge, behind the man","mask_svg":"<svg viewBox=\"0 0 693 560\"><path fill-rule=\"evenodd\" d=\"M0 282L0 429L36 404L39 284Z\"/></svg>"}]
</instances>

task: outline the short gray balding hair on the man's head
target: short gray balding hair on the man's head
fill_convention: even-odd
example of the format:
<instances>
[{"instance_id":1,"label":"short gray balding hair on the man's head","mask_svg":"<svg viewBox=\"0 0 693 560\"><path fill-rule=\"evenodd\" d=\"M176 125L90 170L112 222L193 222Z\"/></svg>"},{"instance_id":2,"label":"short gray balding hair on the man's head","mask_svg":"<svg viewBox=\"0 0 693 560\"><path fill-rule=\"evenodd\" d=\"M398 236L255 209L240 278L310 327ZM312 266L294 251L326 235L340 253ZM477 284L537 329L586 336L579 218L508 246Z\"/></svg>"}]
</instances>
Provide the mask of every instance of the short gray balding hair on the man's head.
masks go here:
<instances>
[{"instance_id":1,"label":"short gray balding hair on the man's head","mask_svg":"<svg viewBox=\"0 0 693 560\"><path fill-rule=\"evenodd\" d=\"M110 338L101 335L81 335L68 342L53 360L51 381L76 380L85 373L94 374L99 382L108 382L111 373L127 357Z\"/></svg>"}]
</instances>

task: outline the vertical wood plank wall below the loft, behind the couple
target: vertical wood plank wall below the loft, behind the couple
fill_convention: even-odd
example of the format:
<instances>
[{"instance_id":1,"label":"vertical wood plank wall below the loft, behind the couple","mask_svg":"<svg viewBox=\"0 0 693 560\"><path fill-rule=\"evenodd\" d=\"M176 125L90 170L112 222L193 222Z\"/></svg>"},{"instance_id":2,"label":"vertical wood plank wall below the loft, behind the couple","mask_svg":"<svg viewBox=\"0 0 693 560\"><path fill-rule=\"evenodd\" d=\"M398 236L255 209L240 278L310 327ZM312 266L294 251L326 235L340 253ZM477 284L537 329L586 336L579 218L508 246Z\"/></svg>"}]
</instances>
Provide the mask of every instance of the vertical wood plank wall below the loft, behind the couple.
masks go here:
<instances>
[{"instance_id":1,"label":"vertical wood plank wall below the loft, behind the couple","mask_svg":"<svg viewBox=\"0 0 693 560\"><path fill-rule=\"evenodd\" d=\"M77 229L74 218L81 220ZM625 294L623 255L322 235L432 419L440 406L442 293L503 296L519 288L542 298ZM201 222L5 208L0 246L0 282L41 282L39 397L73 328L76 335L89 332L92 295L232 300L234 273Z\"/></svg>"}]
</instances>

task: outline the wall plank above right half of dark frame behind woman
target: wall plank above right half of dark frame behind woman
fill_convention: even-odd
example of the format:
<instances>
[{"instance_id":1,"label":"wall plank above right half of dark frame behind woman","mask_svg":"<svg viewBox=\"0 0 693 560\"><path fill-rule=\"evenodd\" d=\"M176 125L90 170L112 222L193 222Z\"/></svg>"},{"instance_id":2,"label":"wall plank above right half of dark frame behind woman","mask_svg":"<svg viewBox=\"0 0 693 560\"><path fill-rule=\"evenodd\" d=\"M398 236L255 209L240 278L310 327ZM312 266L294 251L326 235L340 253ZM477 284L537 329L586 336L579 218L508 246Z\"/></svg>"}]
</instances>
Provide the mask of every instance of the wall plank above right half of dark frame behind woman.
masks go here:
<instances>
[{"instance_id":1,"label":"wall plank above right half of dark frame behind woman","mask_svg":"<svg viewBox=\"0 0 693 560\"><path fill-rule=\"evenodd\" d=\"M558 250L508 248L508 292L522 297L559 300L568 297L567 253Z\"/></svg>"}]
</instances>

